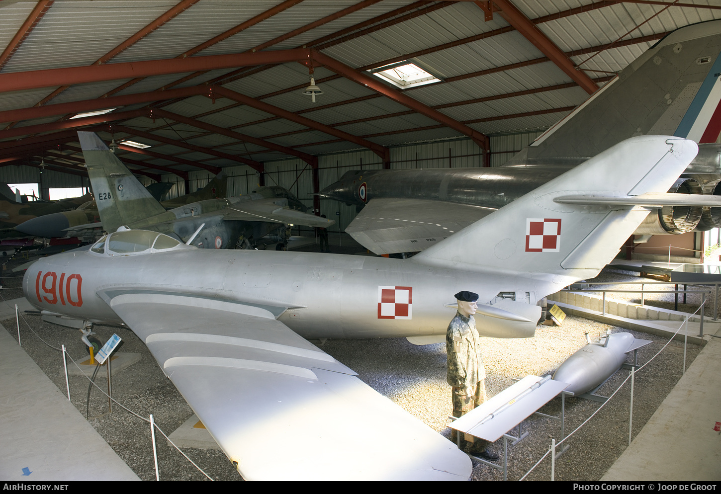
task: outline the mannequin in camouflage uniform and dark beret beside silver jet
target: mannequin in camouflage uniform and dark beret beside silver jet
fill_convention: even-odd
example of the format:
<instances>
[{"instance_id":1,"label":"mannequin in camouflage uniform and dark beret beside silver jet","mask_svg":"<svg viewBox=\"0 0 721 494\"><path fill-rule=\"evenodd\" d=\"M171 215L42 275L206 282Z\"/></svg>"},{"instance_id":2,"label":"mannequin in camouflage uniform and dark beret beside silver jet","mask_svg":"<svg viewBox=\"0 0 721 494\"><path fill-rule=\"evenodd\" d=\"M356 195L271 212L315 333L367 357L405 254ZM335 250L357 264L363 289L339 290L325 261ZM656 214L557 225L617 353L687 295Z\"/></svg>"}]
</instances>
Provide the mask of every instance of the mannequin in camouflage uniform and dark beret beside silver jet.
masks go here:
<instances>
[{"instance_id":1,"label":"mannequin in camouflage uniform and dark beret beside silver jet","mask_svg":"<svg viewBox=\"0 0 721 494\"><path fill-rule=\"evenodd\" d=\"M486 372L480 349L480 337L473 315L478 308L478 295L473 292L456 293L458 312L448 324L446 332L446 353L448 354L448 374L446 380L453 388L453 416L461 417L486 400ZM456 431L451 433L451 441L456 441ZM491 461L498 455L487 451L488 441L476 439L466 444L470 454Z\"/></svg>"}]
</instances>

